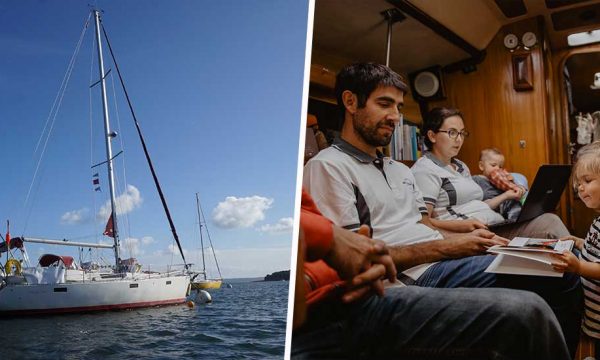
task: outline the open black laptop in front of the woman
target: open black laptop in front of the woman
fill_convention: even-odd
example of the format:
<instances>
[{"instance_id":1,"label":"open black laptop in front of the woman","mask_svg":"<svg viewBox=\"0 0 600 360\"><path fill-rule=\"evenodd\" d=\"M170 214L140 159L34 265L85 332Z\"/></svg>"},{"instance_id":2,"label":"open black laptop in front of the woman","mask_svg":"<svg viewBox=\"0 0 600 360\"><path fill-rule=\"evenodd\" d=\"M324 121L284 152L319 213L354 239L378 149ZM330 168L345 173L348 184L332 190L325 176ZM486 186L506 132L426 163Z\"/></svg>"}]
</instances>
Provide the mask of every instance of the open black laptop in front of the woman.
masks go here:
<instances>
[{"instance_id":1,"label":"open black laptop in front of the woman","mask_svg":"<svg viewBox=\"0 0 600 360\"><path fill-rule=\"evenodd\" d=\"M519 217L490 225L489 229L493 230L506 224L521 223L544 213L554 212L570 176L571 165L540 166Z\"/></svg>"}]
</instances>

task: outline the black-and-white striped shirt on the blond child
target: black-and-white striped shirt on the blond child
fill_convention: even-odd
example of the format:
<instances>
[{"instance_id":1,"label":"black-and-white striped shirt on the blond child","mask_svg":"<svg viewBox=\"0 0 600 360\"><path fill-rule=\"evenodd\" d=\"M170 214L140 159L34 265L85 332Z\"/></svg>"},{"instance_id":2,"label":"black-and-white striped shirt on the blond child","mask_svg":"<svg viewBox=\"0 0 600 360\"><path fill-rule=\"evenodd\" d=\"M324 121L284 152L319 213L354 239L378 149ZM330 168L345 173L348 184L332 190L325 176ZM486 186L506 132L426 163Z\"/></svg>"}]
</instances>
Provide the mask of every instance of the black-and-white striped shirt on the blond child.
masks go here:
<instances>
[{"instance_id":1,"label":"black-and-white striped shirt on the blond child","mask_svg":"<svg viewBox=\"0 0 600 360\"><path fill-rule=\"evenodd\" d=\"M585 237L579 257L589 262L600 262L600 217L594 219ZM585 295L583 331L590 337L600 339L600 280L581 278Z\"/></svg>"}]
</instances>

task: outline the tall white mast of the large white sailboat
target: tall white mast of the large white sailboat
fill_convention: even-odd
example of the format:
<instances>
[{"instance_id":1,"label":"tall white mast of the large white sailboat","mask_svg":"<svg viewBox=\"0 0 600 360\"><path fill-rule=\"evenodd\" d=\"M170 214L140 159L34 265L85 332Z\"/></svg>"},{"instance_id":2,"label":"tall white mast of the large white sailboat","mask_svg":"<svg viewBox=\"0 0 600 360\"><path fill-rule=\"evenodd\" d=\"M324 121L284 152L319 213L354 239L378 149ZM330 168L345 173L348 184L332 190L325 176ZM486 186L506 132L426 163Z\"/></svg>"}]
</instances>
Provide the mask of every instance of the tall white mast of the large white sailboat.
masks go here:
<instances>
[{"instance_id":1,"label":"tall white mast of the large white sailboat","mask_svg":"<svg viewBox=\"0 0 600 360\"><path fill-rule=\"evenodd\" d=\"M110 187L110 209L113 221L113 239L115 242L115 269L119 269L119 232L117 231L117 212L115 196L115 175L112 163L111 140L116 136L110 131L110 122L108 121L108 101L106 100L106 83L104 81L104 60L102 58L102 41L100 39L100 12L94 10L96 19L96 43L98 44L98 67L100 69L100 85L102 88L102 112L104 114L104 141L106 143L106 163L108 167L108 184Z\"/></svg>"}]
</instances>

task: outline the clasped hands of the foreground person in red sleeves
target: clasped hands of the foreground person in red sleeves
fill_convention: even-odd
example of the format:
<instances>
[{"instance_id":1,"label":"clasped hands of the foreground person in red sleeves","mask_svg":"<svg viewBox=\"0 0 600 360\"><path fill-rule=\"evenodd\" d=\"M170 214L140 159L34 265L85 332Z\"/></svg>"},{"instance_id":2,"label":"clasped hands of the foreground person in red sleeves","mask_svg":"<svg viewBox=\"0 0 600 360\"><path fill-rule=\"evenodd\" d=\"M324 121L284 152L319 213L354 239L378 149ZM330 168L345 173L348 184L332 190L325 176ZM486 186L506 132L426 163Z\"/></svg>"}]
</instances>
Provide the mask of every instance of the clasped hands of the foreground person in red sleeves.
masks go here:
<instances>
[{"instance_id":1,"label":"clasped hands of the foreground person in red sleeves","mask_svg":"<svg viewBox=\"0 0 600 360\"><path fill-rule=\"evenodd\" d=\"M354 233L333 227L333 245L325 257L340 277L348 280L345 302L357 300L374 291L383 295L383 279L396 281L396 267L383 241L369 238L369 228L361 226Z\"/></svg>"}]
</instances>

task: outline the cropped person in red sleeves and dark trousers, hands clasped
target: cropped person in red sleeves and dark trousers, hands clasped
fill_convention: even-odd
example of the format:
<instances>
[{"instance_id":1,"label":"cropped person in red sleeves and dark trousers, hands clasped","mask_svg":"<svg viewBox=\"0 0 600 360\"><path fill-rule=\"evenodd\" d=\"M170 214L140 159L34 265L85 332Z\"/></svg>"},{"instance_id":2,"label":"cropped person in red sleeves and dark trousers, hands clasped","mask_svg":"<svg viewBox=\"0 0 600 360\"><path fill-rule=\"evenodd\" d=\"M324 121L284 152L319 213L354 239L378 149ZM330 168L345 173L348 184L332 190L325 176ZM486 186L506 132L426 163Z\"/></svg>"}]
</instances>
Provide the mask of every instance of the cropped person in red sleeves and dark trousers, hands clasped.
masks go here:
<instances>
[{"instance_id":1,"label":"cropped person in red sleeves and dark trousers, hands clasped","mask_svg":"<svg viewBox=\"0 0 600 360\"><path fill-rule=\"evenodd\" d=\"M309 308L293 333L293 359L569 358L556 318L533 293L409 286L384 295L381 279L394 281L396 270L381 242L333 226L306 193L300 226L313 262L296 272L307 279Z\"/></svg>"}]
</instances>

